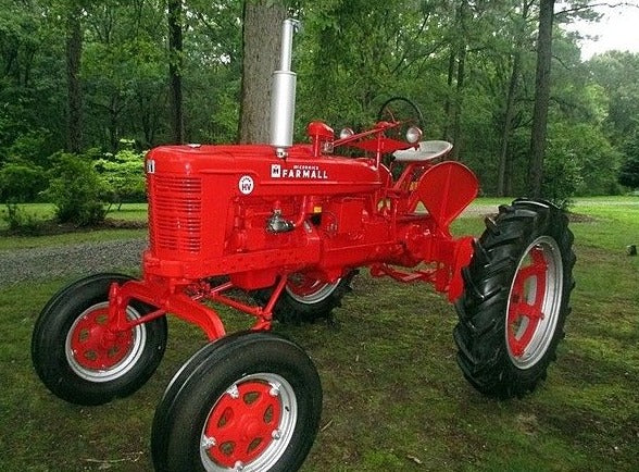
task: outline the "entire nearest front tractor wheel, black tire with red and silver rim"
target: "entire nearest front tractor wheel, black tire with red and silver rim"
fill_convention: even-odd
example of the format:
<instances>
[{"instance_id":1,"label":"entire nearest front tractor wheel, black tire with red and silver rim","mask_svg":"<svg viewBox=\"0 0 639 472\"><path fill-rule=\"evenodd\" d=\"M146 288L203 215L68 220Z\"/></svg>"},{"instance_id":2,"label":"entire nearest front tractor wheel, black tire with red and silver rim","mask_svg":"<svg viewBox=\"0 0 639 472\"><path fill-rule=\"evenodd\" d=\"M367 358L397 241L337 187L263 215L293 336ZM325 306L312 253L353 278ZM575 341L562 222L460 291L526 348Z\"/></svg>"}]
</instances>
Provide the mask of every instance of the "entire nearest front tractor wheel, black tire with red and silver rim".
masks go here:
<instances>
[{"instance_id":1,"label":"entire nearest front tractor wheel, black tire with red and silver rim","mask_svg":"<svg viewBox=\"0 0 639 472\"><path fill-rule=\"evenodd\" d=\"M322 385L309 356L265 332L204 346L171 381L151 432L159 472L293 472L320 427Z\"/></svg>"}]
</instances>

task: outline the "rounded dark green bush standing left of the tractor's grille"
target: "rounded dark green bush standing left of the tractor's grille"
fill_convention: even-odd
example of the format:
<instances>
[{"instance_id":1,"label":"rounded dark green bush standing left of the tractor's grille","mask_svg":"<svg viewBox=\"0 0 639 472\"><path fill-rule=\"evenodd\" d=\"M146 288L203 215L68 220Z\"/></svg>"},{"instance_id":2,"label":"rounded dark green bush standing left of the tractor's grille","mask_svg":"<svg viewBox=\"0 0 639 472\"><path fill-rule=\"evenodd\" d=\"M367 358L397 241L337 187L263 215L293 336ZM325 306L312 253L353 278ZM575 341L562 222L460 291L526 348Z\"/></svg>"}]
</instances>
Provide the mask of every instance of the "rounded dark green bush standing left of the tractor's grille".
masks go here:
<instances>
[{"instance_id":1,"label":"rounded dark green bush standing left of the tractor's grille","mask_svg":"<svg viewBox=\"0 0 639 472\"><path fill-rule=\"evenodd\" d=\"M88 226L104 220L106 211L100 200L102 183L86 156L61 153L51 171L47 194L62 223Z\"/></svg>"}]
</instances>

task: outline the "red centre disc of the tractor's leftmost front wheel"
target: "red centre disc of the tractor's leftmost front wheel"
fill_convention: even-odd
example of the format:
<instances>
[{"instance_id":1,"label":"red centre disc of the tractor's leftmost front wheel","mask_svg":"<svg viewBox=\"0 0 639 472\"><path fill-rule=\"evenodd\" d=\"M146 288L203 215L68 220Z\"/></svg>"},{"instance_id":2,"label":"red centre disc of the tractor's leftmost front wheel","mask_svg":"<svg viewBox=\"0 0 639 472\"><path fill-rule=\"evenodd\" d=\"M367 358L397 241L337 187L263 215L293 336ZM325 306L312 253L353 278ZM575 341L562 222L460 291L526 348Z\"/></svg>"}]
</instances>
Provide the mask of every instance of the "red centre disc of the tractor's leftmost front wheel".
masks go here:
<instances>
[{"instance_id":1,"label":"red centre disc of the tractor's leftmost front wheel","mask_svg":"<svg viewBox=\"0 0 639 472\"><path fill-rule=\"evenodd\" d=\"M83 315L71 333L73 356L86 369L112 369L130 352L131 344L130 330L118 333L110 330L108 308Z\"/></svg>"}]
</instances>

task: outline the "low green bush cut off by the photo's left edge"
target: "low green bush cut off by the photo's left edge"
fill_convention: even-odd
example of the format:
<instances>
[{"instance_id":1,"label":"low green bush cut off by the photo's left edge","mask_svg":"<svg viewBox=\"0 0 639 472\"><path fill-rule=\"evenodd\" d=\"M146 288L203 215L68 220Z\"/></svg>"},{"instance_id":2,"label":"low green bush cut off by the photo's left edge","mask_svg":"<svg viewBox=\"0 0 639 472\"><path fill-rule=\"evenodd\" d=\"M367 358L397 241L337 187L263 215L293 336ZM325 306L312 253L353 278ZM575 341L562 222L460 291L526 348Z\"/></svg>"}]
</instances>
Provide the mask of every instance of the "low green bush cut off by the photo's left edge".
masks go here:
<instances>
[{"instance_id":1,"label":"low green bush cut off by the photo's left edge","mask_svg":"<svg viewBox=\"0 0 639 472\"><path fill-rule=\"evenodd\" d=\"M0 201L36 201L47 188L45 171L28 162L8 162L0 169Z\"/></svg>"}]
</instances>

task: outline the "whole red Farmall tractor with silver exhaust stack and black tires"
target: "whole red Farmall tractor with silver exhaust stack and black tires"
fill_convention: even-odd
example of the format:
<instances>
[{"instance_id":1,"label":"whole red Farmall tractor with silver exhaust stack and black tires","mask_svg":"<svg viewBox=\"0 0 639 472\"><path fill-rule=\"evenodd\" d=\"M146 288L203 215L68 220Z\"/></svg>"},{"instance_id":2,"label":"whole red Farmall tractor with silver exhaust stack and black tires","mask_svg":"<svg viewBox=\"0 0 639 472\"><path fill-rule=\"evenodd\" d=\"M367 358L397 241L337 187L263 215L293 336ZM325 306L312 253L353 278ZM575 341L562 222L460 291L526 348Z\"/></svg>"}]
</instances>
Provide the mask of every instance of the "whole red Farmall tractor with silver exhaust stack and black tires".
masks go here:
<instances>
[{"instance_id":1,"label":"whole red Farmall tractor with silver exhaust stack and black tires","mask_svg":"<svg viewBox=\"0 0 639 472\"><path fill-rule=\"evenodd\" d=\"M405 99L387 102L367 131L336 138L313 122L310 142L293 145L295 29L287 20L271 142L151 150L141 280L77 281L35 326L39 377L79 405L126 397L149 380L166 346L166 314L204 331L211 343L175 374L155 412L159 471L302 464L318 430L320 377L300 347L270 330L275 320L326 315L358 268L446 294L459 314L458 362L488 396L532 390L563 337L575 262L566 216L519 199L487 219L479 239L451 236L477 179L446 160L451 145L421 141L416 109L414 120L398 117ZM227 335L216 306L254 325Z\"/></svg>"}]
</instances>

